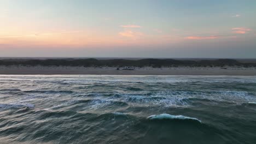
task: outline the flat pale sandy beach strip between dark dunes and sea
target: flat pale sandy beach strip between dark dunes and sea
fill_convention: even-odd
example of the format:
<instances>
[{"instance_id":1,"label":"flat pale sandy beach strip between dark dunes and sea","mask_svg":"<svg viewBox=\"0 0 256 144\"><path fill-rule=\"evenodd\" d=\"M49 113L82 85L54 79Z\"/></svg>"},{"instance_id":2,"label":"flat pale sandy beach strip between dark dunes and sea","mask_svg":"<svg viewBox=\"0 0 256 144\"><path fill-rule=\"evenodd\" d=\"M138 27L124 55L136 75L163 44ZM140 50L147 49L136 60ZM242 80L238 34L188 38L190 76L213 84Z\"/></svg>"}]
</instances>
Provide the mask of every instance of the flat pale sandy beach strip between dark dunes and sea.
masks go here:
<instances>
[{"instance_id":1,"label":"flat pale sandy beach strip between dark dunes and sea","mask_svg":"<svg viewBox=\"0 0 256 144\"><path fill-rule=\"evenodd\" d=\"M143 67L135 70L117 70L115 67L28 67L28 66L0 66L1 75L256 75L256 68L228 67L171 67L152 68Z\"/></svg>"}]
</instances>

